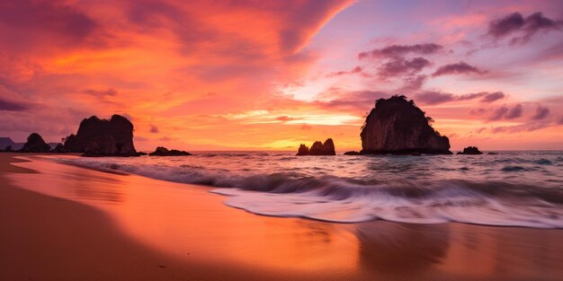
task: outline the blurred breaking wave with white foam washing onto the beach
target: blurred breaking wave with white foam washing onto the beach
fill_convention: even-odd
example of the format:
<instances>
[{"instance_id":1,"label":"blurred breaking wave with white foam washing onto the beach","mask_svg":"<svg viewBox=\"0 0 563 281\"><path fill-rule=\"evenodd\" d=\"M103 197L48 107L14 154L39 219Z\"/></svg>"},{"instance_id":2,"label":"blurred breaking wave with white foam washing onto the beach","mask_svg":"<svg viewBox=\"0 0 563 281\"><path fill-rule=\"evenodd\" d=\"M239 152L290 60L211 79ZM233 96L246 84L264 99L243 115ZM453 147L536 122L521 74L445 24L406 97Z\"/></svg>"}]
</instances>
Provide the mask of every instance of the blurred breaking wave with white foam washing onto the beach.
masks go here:
<instances>
[{"instance_id":1,"label":"blurred breaking wave with white foam washing onto the beach","mask_svg":"<svg viewBox=\"0 0 563 281\"><path fill-rule=\"evenodd\" d=\"M563 228L563 189L553 187L500 180L352 179L299 171L248 174L199 165L61 161L219 187L211 192L228 196L228 206L259 215L336 223L383 219L413 224L459 222Z\"/></svg>"}]
</instances>

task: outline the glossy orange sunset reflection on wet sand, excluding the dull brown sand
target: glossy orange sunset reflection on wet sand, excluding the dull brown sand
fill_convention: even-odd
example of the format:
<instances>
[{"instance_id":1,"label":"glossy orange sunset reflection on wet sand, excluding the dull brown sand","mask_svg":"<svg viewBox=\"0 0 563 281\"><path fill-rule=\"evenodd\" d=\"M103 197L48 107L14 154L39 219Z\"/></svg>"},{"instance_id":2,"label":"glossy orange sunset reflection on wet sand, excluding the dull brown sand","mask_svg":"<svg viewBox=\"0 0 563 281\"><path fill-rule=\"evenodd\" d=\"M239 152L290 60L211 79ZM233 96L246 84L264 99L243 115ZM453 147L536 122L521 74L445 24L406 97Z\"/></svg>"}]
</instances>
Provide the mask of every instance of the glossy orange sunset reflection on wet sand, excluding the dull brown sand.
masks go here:
<instances>
[{"instance_id":1,"label":"glossy orange sunset reflection on wet sand, excluding the dull brown sand","mask_svg":"<svg viewBox=\"0 0 563 281\"><path fill-rule=\"evenodd\" d=\"M8 174L14 186L103 210L122 235L174 259L176 266L197 265L194 277L219 274L205 268L223 268L233 278L251 270L270 279L563 277L560 230L276 218L224 206L224 197L201 186L45 160L16 165L40 173Z\"/></svg>"}]
</instances>

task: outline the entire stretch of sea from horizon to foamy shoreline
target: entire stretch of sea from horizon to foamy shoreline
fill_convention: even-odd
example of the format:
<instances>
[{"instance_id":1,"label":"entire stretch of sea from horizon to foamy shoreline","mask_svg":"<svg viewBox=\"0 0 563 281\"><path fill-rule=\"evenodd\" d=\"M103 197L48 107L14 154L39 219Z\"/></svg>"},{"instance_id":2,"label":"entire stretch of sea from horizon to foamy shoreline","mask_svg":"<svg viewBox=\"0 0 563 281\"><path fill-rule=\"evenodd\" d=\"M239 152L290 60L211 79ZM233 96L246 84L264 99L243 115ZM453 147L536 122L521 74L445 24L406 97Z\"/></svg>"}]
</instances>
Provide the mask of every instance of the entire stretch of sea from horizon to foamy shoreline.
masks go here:
<instances>
[{"instance_id":1,"label":"entire stretch of sea from horizon to foamy shoreline","mask_svg":"<svg viewBox=\"0 0 563 281\"><path fill-rule=\"evenodd\" d=\"M387 220L563 228L563 152L294 156L196 152L58 162L200 184L258 215L335 223ZM158 187L154 187L157 189Z\"/></svg>"}]
</instances>

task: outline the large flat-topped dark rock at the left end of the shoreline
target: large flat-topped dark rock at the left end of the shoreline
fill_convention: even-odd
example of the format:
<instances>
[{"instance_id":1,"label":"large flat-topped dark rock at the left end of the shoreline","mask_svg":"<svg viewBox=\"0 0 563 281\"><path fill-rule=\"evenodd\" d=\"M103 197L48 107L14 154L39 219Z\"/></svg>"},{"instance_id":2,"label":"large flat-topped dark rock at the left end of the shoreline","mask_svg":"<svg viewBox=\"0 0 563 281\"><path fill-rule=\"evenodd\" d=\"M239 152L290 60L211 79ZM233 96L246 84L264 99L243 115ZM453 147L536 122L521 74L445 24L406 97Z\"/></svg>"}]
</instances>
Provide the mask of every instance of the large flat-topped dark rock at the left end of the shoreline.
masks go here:
<instances>
[{"instance_id":1,"label":"large flat-topped dark rock at the left end of the shoreline","mask_svg":"<svg viewBox=\"0 0 563 281\"><path fill-rule=\"evenodd\" d=\"M65 138L67 152L83 156L139 156L133 145L133 124L121 115L112 119L93 116L80 122L76 135Z\"/></svg>"}]
</instances>

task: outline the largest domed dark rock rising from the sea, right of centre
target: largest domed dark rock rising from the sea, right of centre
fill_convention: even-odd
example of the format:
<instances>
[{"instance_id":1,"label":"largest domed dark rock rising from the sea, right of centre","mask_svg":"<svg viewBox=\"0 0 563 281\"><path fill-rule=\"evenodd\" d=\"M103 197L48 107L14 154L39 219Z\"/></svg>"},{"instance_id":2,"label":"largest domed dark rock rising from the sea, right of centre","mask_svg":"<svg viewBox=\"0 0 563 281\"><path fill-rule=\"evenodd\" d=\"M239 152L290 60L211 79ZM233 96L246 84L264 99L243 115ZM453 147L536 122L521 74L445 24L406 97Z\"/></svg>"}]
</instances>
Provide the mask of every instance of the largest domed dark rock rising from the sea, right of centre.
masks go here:
<instances>
[{"instance_id":1,"label":"largest domed dark rock rising from the sea, right of centre","mask_svg":"<svg viewBox=\"0 0 563 281\"><path fill-rule=\"evenodd\" d=\"M432 121L405 96L377 100L362 127L361 154L451 154Z\"/></svg>"}]
</instances>

